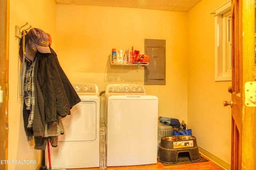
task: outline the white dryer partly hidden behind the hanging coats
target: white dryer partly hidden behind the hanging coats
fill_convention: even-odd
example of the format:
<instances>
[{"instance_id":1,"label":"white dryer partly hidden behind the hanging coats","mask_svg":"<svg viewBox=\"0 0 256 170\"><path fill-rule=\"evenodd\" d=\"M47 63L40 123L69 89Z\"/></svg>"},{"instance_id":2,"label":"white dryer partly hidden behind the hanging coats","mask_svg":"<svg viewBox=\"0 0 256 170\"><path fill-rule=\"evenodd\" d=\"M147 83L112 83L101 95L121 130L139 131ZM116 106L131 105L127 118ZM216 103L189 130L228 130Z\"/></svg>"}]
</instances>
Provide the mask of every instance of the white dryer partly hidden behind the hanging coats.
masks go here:
<instances>
[{"instance_id":1,"label":"white dryer partly hidden behind the hanging coats","mask_svg":"<svg viewBox=\"0 0 256 170\"><path fill-rule=\"evenodd\" d=\"M72 84L81 102L72 107L71 115L62 118L64 135L58 137L58 146L50 146L51 165L54 168L99 167L100 98L96 84ZM49 166L48 150L45 163Z\"/></svg>"}]
</instances>

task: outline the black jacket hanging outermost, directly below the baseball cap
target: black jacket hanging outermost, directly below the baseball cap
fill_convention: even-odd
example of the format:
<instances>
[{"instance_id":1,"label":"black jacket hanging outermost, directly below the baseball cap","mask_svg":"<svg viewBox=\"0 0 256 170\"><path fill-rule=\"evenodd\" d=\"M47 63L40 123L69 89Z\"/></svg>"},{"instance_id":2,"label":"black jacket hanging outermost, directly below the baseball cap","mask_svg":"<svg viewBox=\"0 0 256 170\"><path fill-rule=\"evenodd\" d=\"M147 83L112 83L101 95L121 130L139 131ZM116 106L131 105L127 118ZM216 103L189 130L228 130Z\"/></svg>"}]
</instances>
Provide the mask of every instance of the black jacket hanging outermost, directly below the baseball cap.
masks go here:
<instances>
[{"instance_id":1,"label":"black jacket hanging outermost, directly below the baseball cap","mask_svg":"<svg viewBox=\"0 0 256 170\"><path fill-rule=\"evenodd\" d=\"M72 106L81 101L60 67L56 53L50 49L51 53L37 53L38 83L44 96L46 122L57 121L57 114L70 115Z\"/></svg>"}]
</instances>

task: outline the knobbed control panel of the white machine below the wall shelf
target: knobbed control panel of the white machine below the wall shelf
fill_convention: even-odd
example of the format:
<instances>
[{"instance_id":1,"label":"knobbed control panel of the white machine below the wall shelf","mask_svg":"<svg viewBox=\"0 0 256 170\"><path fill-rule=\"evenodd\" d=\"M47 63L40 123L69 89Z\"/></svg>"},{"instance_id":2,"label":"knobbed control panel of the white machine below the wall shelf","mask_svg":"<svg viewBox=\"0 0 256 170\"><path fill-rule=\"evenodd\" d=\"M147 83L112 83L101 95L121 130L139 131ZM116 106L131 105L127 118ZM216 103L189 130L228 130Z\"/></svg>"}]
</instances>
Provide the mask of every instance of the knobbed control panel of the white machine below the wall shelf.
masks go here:
<instances>
[{"instance_id":1,"label":"knobbed control panel of the white machine below the wall shelf","mask_svg":"<svg viewBox=\"0 0 256 170\"><path fill-rule=\"evenodd\" d=\"M106 94L146 94L142 84L109 84Z\"/></svg>"}]
</instances>

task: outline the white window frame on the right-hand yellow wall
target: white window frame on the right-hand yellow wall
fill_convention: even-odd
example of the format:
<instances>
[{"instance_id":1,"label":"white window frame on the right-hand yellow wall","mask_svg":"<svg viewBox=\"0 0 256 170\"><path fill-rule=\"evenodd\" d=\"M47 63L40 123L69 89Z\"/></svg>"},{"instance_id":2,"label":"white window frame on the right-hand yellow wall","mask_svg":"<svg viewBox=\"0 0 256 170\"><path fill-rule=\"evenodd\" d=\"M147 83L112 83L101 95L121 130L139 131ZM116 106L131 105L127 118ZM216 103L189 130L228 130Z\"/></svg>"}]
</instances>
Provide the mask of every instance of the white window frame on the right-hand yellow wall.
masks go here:
<instances>
[{"instance_id":1,"label":"white window frame on the right-hand yellow wall","mask_svg":"<svg viewBox=\"0 0 256 170\"><path fill-rule=\"evenodd\" d=\"M215 81L231 81L232 34L229 31L231 29L231 1L229 0L212 11L211 14L214 14Z\"/></svg>"}]
</instances>

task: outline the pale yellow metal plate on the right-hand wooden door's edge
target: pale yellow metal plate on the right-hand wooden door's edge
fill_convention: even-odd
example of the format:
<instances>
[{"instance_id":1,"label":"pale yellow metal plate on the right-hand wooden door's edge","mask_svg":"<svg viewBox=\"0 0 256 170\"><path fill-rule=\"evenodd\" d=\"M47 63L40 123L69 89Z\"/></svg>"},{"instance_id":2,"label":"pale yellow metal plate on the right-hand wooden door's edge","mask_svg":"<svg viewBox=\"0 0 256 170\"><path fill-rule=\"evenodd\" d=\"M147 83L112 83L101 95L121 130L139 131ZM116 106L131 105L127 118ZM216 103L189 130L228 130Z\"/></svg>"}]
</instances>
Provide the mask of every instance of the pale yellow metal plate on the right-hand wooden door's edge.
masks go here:
<instances>
[{"instance_id":1,"label":"pale yellow metal plate on the right-hand wooden door's edge","mask_svg":"<svg viewBox=\"0 0 256 170\"><path fill-rule=\"evenodd\" d=\"M256 106L256 82L246 82L244 84L244 97L244 104L246 106Z\"/></svg>"}]
</instances>

